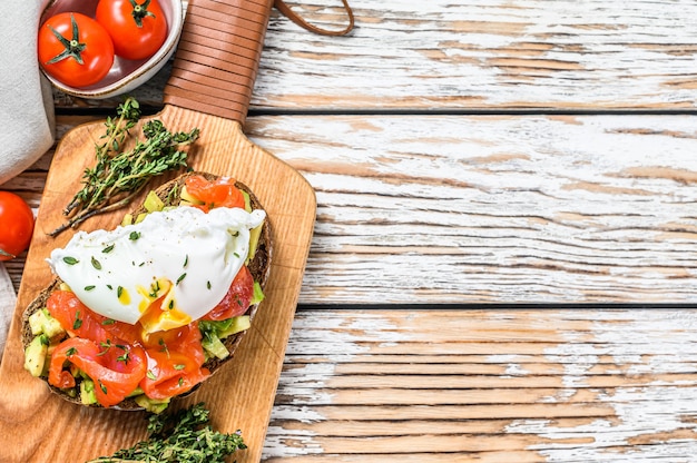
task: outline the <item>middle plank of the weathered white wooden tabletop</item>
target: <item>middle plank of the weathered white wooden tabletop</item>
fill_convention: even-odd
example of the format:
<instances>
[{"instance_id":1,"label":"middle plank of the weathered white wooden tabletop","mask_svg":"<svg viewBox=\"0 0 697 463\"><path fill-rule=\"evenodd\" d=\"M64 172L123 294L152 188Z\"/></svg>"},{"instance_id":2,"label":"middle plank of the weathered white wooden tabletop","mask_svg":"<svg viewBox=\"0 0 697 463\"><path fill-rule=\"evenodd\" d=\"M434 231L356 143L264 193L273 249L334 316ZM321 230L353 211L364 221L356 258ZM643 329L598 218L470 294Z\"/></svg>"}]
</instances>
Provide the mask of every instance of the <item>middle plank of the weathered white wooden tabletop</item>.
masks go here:
<instances>
[{"instance_id":1,"label":"middle plank of the weathered white wooden tabletop","mask_svg":"<svg viewBox=\"0 0 697 463\"><path fill-rule=\"evenodd\" d=\"M697 302L689 116L268 116L246 130L317 195L302 304ZM8 188L38 205L46 165Z\"/></svg>"}]
</instances>

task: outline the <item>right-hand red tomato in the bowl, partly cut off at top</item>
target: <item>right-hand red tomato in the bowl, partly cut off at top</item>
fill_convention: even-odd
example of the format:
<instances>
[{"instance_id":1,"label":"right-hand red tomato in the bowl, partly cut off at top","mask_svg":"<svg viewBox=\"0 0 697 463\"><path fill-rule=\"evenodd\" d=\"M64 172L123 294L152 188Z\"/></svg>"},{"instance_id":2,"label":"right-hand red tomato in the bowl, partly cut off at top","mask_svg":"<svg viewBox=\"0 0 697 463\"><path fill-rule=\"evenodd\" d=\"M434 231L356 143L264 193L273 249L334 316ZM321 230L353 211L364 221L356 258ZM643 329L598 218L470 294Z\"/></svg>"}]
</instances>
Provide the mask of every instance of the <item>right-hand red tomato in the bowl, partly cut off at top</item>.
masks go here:
<instances>
[{"instance_id":1,"label":"right-hand red tomato in the bowl, partly cut off at top","mask_svg":"<svg viewBox=\"0 0 697 463\"><path fill-rule=\"evenodd\" d=\"M111 36L116 55L126 59L149 58L167 39L167 19L157 0L100 0L95 18Z\"/></svg>"}]
</instances>

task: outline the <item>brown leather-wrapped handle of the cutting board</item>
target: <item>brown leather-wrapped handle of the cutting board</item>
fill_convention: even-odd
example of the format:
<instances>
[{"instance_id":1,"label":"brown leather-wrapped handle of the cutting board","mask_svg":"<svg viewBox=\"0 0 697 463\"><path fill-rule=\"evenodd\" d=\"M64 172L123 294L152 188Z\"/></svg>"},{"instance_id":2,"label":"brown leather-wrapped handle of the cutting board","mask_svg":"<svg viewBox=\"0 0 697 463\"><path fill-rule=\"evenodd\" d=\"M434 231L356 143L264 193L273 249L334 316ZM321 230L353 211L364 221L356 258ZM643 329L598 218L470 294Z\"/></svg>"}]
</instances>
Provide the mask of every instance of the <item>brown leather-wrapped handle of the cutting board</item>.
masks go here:
<instances>
[{"instance_id":1,"label":"brown leather-wrapped handle of the cutting board","mask_svg":"<svg viewBox=\"0 0 697 463\"><path fill-rule=\"evenodd\" d=\"M189 0L164 101L244 125L273 0Z\"/></svg>"}]
</instances>

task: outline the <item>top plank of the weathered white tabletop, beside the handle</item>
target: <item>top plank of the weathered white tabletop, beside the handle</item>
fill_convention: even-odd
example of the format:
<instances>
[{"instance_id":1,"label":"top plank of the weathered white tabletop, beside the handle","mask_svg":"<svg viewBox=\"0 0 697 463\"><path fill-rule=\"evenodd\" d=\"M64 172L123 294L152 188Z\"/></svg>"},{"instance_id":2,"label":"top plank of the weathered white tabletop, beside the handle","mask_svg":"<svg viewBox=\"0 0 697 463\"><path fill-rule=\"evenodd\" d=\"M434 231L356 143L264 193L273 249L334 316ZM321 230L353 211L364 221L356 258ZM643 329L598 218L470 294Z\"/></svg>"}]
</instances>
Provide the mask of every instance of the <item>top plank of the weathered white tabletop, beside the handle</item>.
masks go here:
<instances>
[{"instance_id":1,"label":"top plank of the weathered white tabletop, beside the handle","mask_svg":"<svg viewBox=\"0 0 697 463\"><path fill-rule=\"evenodd\" d=\"M337 0L288 3L310 22L345 23ZM693 1L350 3L348 37L273 11L253 110L695 109ZM167 72L136 95L159 105Z\"/></svg>"}]
</instances>

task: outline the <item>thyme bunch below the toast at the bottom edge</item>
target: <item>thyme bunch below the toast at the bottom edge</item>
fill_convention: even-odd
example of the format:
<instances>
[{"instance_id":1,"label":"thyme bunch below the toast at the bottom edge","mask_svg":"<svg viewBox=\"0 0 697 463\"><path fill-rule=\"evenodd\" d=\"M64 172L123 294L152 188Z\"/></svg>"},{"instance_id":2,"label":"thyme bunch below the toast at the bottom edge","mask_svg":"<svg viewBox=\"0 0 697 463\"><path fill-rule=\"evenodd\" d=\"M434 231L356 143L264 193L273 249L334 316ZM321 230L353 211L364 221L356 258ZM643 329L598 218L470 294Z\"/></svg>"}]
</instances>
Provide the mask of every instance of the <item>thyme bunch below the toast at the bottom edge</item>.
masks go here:
<instances>
[{"instance_id":1,"label":"thyme bunch below the toast at the bottom edge","mask_svg":"<svg viewBox=\"0 0 697 463\"><path fill-rule=\"evenodd\" d=\"M224 463L226 456L247 447L239 431L214 431L208 415L203 403L174 414L150 415L147 440L87 463Z\"/></svg>"}]
</instances>

